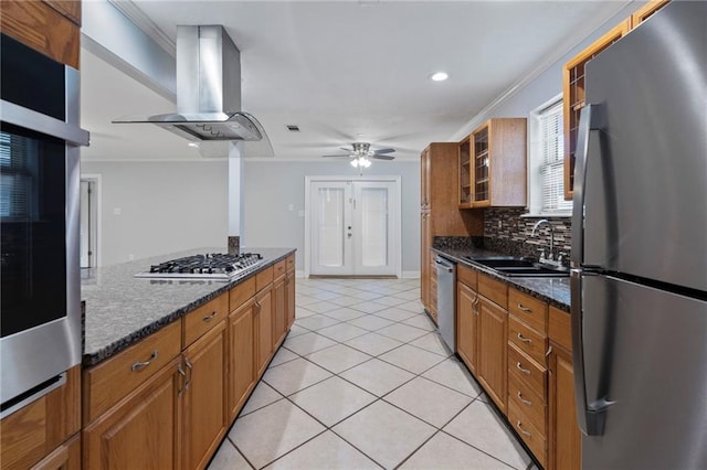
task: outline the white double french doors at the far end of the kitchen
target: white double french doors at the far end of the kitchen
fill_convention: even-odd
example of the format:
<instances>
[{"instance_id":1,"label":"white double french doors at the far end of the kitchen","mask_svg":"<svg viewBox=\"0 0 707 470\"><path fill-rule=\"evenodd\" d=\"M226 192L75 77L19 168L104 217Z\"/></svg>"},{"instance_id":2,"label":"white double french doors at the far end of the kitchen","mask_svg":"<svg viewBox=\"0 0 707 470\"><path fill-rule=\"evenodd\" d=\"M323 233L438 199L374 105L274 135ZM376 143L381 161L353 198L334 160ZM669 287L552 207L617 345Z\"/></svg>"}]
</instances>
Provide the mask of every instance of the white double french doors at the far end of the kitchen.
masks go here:
<instances>
[{"instance_id":1,"label":"white double french doors at the far end of the kitchen","mask_svg":"<svg viewBox=\"0 0 707 470\"><path fill-rule=\"evenodd\" d=\"M397 179L309 179L309 274L395 276L400 270Z\"/></svg>"}]
</instances>

